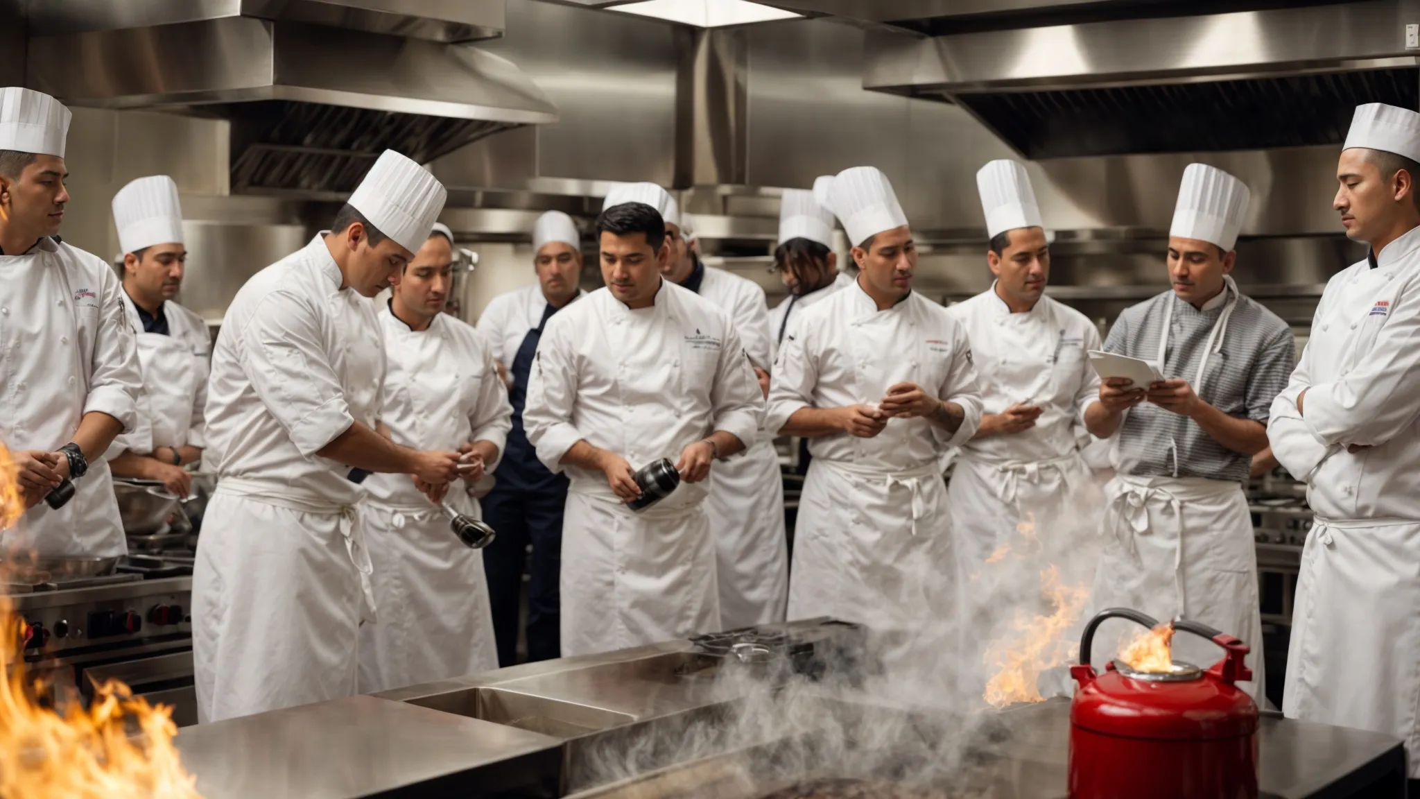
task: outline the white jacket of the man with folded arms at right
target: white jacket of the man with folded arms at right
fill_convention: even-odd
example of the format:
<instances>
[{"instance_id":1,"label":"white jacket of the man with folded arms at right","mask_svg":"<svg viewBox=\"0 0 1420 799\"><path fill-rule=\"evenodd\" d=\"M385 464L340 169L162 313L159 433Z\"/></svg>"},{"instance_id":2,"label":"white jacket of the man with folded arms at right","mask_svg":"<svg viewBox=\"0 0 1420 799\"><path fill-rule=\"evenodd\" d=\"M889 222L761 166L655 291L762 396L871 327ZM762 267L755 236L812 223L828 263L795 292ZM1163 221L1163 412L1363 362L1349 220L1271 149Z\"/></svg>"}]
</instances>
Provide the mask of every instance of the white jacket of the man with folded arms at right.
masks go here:
<instances>
[{"instance_id":1,"label":"white jacket of the man with folded arms at right","mask_svg":"<svg viewBox=\"0 0 1420 799\"><path fill-rule=\"evenodd\" d=\"M1420 227L1326 283L1272 402L1272 454L1323 519L1420 520ZM1296 411L1296 397L1305 417ZM1367 446L1356 454L1348 445Z\"/></svg>"}]
</instances>

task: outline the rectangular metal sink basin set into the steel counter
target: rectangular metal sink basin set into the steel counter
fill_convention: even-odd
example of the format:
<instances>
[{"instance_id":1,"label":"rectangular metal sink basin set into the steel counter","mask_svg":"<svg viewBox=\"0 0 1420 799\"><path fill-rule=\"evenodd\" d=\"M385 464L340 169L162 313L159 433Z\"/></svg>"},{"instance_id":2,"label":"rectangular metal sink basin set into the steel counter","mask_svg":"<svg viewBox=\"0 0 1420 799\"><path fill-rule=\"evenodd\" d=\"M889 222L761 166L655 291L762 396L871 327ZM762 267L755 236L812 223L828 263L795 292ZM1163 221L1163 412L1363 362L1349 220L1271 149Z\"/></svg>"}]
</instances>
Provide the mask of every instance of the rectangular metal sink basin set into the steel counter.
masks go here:
<instances>
[{"instance_id":1,"label":"rectangular metal sink basin set into the steel counter","mask_svg":"<svg viewBox=\"0 0 1420 799\"><path fill-rule=\"evenodd\" d=\"M420 697L409 704L562 739L635 721L628 714L506 688L467 688Z\"/></svg>"}]
</instances>

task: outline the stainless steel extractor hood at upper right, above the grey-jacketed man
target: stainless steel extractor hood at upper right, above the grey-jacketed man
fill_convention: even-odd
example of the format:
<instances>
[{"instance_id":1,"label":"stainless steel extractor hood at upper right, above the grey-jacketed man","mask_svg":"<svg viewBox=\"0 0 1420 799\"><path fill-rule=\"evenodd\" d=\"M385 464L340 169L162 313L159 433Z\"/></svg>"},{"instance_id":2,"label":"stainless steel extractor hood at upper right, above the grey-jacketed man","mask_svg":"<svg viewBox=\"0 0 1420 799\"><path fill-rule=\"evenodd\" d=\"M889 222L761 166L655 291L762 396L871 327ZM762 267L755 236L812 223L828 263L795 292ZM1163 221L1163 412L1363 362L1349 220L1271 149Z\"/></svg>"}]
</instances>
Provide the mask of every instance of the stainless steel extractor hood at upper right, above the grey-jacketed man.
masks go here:
<instances>
[{"instance_id":1,"label":"stainless steel extractor hood at upper right, above the grey-jacketed man","mask_svg":"<svg viewBox=\"0 0 1420 799\"><path fill-rule=\"evenodd\" d=\"M1420 104L1420 1L771 0L872 23L863 85L956 102L1027 158L1345 139Z\"/></svg>"}]
</instances>

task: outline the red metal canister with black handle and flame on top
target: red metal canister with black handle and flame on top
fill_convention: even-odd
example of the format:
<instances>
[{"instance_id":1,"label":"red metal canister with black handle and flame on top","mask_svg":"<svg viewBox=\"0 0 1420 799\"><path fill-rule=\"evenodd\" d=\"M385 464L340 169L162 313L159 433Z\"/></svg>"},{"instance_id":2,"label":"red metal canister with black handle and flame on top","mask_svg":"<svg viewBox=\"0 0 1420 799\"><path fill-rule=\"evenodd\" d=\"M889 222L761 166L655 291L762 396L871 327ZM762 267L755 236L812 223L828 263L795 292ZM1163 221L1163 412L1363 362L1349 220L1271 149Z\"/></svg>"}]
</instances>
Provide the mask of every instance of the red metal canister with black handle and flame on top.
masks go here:
<instances>
[{"instance_id":1,"label":"red metal canister with black handle and flame on top","mask_svg":"<svg viewBox=\"0 0 1420 799\"><path fill-rule=\"evenodd\" d=\"M1197 621L1179 620L1174 630L1213 640L1225 657L1207 671L1173 661L1160 672L1136 671L1116 660L1096 675L1091 644L1106 618L1157 626L1127 608L1105 610L1085 626L1079 665L1071 667L1079 682L1071 707L1071 798L1255 798L1258 709L1235 685L1252 678L1244 663L1248 647Z\"/></svg>"}]
</instances>

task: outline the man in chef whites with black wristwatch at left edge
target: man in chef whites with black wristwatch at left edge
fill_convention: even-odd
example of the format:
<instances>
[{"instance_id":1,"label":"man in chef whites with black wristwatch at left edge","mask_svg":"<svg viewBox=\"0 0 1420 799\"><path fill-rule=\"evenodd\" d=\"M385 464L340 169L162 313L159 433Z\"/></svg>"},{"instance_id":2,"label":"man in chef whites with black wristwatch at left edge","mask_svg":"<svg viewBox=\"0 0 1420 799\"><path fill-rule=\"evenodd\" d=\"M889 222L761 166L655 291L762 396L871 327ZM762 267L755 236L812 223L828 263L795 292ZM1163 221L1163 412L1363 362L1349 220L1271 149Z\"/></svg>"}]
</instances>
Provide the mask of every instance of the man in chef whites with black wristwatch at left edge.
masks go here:
<instances>
[{"instance_id":1,"label":"man in chef whites with black wristwatch at left edge","mask_svg":"<svg viewBox=\"0 0 1420 799\"><path fill-rule=\"evenodd\" d=\"M111 557L128 546L102 455L136 425L142 374L118 276L55 236L70 118L50 95L0 88L0 442L28 509L3 547ZM43 499L65 479L74 496L53 509Z\"/></svg>"}]
</instances>

